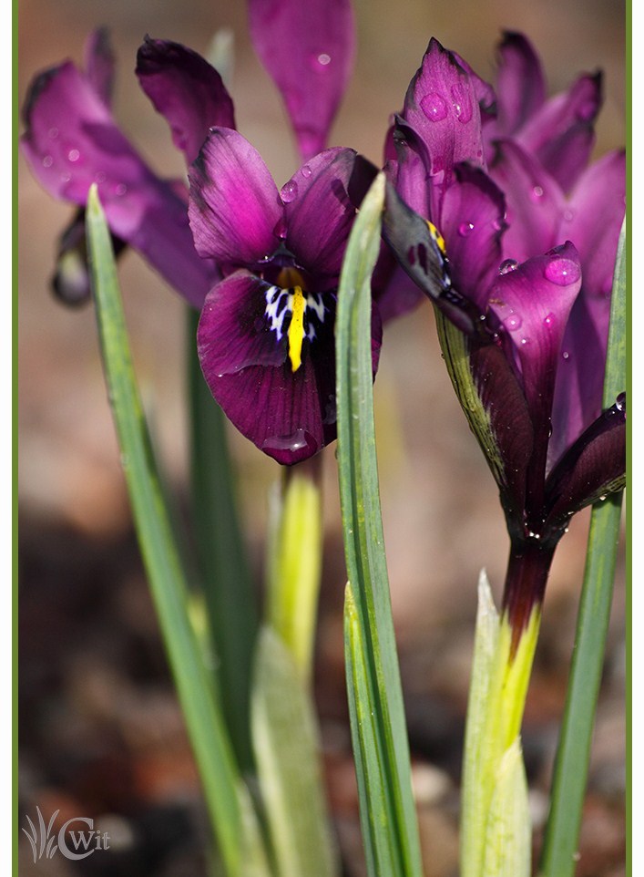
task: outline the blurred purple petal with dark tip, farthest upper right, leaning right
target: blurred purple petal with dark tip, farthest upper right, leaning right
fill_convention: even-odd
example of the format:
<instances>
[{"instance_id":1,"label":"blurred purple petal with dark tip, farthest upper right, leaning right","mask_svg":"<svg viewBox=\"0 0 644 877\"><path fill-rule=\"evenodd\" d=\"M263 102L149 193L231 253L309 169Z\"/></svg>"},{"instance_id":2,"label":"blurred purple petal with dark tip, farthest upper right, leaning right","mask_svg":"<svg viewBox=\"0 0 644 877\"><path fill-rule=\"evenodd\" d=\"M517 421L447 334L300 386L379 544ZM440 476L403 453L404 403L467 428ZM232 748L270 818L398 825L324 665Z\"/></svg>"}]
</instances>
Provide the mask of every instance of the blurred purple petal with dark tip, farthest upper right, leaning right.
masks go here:
<instances>
[{"instance_id":1,"label":"blurred purple petal with dark tip, farthest upper right, leaning right","mask_svg":"<svg viewBox=\"0 0 644 877\"><path fill-rule=\"evenodd\" d=\"M586 169L601 100L601 76L579 77L567 92L550 98L516 134L563 191L570 191Z\"/></svg>"}]
</instances>

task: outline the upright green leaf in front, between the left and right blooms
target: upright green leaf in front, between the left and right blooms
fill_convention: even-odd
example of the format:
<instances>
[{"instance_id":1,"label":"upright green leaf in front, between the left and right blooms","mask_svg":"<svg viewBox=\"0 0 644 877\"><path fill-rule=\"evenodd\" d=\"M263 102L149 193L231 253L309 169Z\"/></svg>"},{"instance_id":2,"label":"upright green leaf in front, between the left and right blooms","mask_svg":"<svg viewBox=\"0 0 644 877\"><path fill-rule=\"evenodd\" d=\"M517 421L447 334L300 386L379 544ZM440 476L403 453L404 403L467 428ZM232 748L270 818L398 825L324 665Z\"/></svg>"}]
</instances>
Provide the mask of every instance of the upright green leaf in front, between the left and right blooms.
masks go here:
<instances>
[{"instance_id":1,"label":"upright green leaf in front, between the left and right blooms","mask_svg":"<svg viewBox=\"0 0 644 877\"><path fill-rule=\"evenodd\" d=\"M371 275L379 245L384 178L358 214L342 266L336 316L338 467L353 601L346 613L347 681L363 841L372 877L419 877L420 842L384 556L373 430ZM370 723L360 721L370 710ZM376 774L370 753L381 758ZM365 759L369 758L369 762ZM386 814L386 818L383 818ZM383 856L383 845L387 852Z\"/></svg>"}]
</instances>

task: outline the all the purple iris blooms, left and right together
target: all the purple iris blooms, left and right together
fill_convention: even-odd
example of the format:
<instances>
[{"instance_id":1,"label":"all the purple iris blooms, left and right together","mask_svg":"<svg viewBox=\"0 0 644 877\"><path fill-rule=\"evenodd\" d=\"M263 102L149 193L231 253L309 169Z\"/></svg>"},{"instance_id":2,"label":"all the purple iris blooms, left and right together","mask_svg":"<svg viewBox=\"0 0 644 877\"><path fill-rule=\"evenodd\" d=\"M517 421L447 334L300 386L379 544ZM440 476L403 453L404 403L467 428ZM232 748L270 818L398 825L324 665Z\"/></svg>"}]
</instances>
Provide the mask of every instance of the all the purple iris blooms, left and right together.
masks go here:
<instances>
[{"instance_id":1,"label":"all the purple iris blooms, left and right together","mask_svg":"<svg viewBox=\"0 0 644 877\"><path fill-rule=\"evenodd\" d=\"M118 129L100 35L85 72L66 62L36 79L23 150L46 189L80 208L64 255L82 243L96 182L119 244L201 309L199 358L213 397L259 448L291 464L335 437L335 304L363 161L325 146L351 72L353 15L349 0L317 0L305 15L299 0L250 0L249 10L302 157L281 189L237 131L217 71L149 38L138 79L185 155L189 191L160 180ZM524 36L504 36L496 88L433 39L385 143L389 249L375 298L390 315L423 290L458 327L478 400L465 413L516 544L554 546L571 513L623 482L625 403L602 412L601 390L625 157L589 164L600 103L598 75L547 98ZM392 253L413 290L389 270ZM377 304L372 337L375 373Z\"/></svg>"}]
</instances>

